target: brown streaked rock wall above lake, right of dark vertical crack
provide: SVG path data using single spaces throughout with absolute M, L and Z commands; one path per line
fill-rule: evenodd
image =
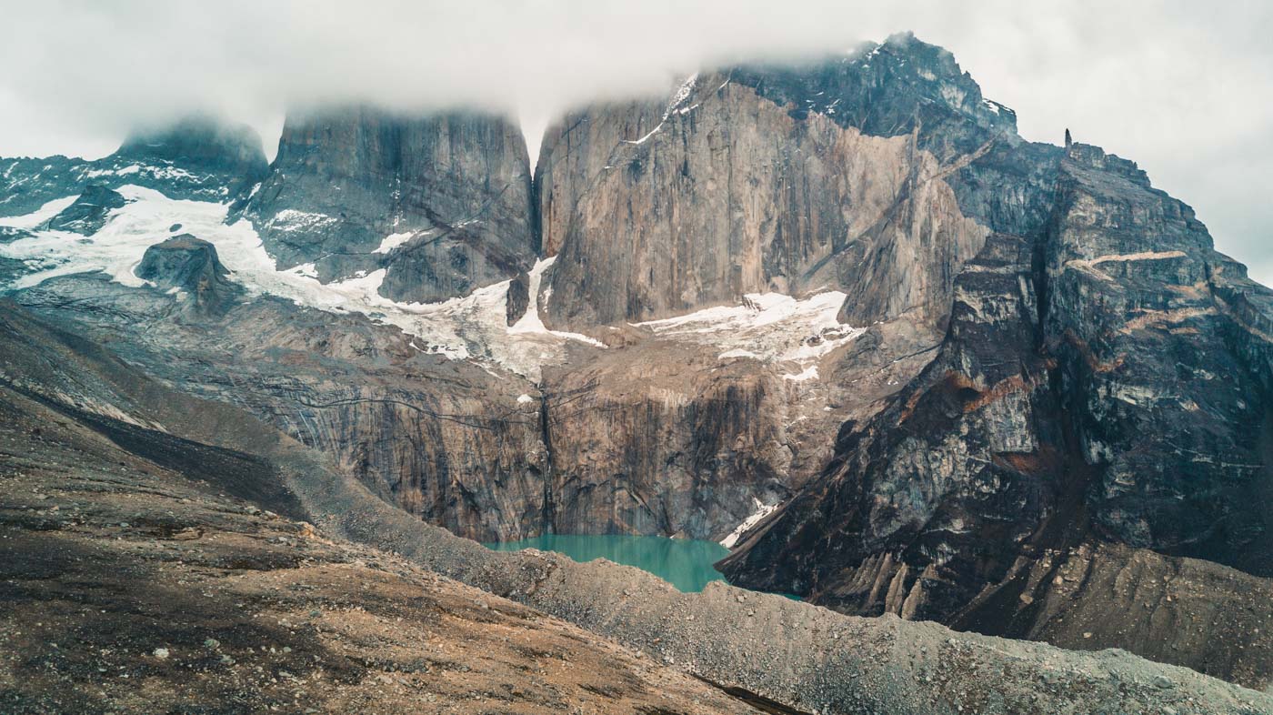
M 784 381 L 718 365 L 653 344 L 546 371 L 547 526 L 719 540 L 789 496 Z

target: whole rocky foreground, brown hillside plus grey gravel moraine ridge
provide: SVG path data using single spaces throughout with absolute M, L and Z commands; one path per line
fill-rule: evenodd
M 629 567 L 491 552 L 237 408 L 8 307 L 0 593 L 13 608 L 0 628 L 13 647 L 0 702 L 14 711 L 1273 709 L 1123 651 L 854 618 L 724 585 L 680 594 Z

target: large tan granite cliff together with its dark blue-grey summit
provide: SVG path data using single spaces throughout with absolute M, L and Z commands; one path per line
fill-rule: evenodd
M 1011 110 L 910 36 L 822 62 L 700 73 L 662 102 L 601 105 L 540 158 L 546 310 L 649 320 L 746 293 L 848 293 L 841 319 L 941 324 L 988 229 L 1040 222 Z M 1011 182 L 1012 190 L 1003 191 Z

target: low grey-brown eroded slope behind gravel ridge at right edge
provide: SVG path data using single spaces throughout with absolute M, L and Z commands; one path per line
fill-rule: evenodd
M 951 626 L 1071 650 L 1122 647 L 1265 690 L 1273 683 L 1270 618 L 1270 579 L 1101 543 L 1021 560 Z

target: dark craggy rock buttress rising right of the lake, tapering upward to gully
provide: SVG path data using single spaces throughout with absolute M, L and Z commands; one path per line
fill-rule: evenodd
M 990 237 L 956 283 L 937 358 L 880 415 L 841 430 L 822 477 L 726 574 L 844 610 L 933 618 L 1007 572 L 1072 472 L 1064 436 L 1040 418 L 1057 408 L 1031 266 L 1029 241 Z M 831 529 L 847 538 L 827 552 L 816 544 Z

